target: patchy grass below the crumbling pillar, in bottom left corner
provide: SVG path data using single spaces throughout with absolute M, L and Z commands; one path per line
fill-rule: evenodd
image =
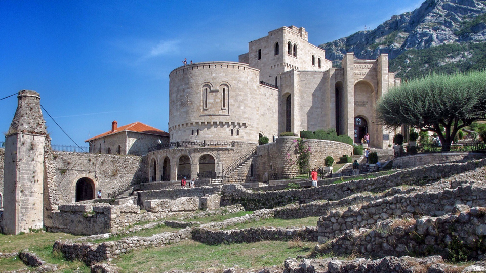
M 49 232 L 34 232 L 19 235 L 0 234 L 0 252 L 19 252 L 28 248 L 29 251 L 36 253 L 42 260 L 46 261 L 47 263 L 57 264 L 58 268 L 63 269 L 65 272 L 76 270 L 78 267 L 78 272 L 90 272 L 90 268 L 83 263 L 79 261 L 65 261 L 62 255 L 52 252 L 52 246 L 56 240 L 74 239 L 79 237 L 80 236 L 70 235 L 67 233 Z M 0 259 L 0 268 L 2 270 L 8 270 L 4 268 L 16 266 L 19 266 L 19 263 L 16 260 Z

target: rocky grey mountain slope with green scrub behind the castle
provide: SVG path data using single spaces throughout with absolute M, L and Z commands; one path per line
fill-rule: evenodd
M 403 78 L 481 69 L 486 67 L 486 1 L 426 0 L 420 8 L 394 15 L 376 29 L 319 47 L 334 66 L 347 52 L 358 59 L 387 53 L 390 71 Z

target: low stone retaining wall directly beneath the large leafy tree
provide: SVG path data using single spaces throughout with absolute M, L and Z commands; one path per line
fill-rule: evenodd
M 395 160 L 393 160 L 393 168 L 413 168 L 428 164 L 440 164 L 444 162 L 482 158 L 486 158 L 486 154 L 472 152 L 424 153 L 395 158 Z

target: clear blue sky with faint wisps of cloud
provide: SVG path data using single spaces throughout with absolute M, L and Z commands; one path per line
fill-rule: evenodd
M 249 41 L 290 25 L 304 27 L 319 45 L 421 2 L 0 0 L 0 98 L 37 91 L 80 146 L 113 120 L 167 131 L 169 73 L 184 58 L 238 61 Z M 16 107 L 16 96 L 0 101 L 0 132 Z M 53 144 L 74 145 L 44 118 Z

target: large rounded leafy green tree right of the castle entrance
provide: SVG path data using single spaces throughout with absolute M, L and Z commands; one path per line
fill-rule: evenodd
M 486 116 L 486 71 L 410 80 L 382 96 L 377 114 L 388 127 L 437 133 L 442 150 L 449 151 L 461 128 Z

